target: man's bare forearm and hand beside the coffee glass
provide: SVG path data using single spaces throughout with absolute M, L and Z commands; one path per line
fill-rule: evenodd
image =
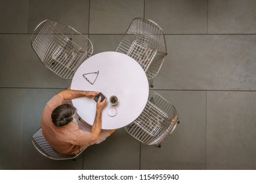
M 102 126 L 102 109 L 106 105 L 106 98 L 104 101 L 100 102 L 101 97 L 98 98 L 98 102 L 96 104 L 96 114 L 95 114 L 95 121 L 93 122 L 93 126 L 91 129 L 91 133 L 93 133 L 93 140 L 96 141 L 98 136 L 100 135 L 101 126 Z

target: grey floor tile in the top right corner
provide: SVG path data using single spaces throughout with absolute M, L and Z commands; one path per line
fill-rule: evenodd
M 256 1 L 209 0 L 208 33 L 255 34 Z

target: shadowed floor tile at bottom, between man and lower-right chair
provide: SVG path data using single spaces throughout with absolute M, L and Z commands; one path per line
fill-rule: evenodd
M 139 156 L 139 141 L 124 128 L 116 129 L 106 141 L 89 146 L 84 151 L 83 169 L 139 169 Z

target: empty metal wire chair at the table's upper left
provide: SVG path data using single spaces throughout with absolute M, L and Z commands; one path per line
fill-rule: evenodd
M 79 65 L 93 54 L 93 44 L 87 37 L 51 19 L 35 27 L 31 44 L 41 62 L 65 79 L 73 78 Z

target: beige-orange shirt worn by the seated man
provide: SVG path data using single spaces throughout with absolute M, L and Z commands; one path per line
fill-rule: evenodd
M 54 108 L 62 105 L 63 101 L 62 97 L 57 94 L 45 106 L 41 119 L 43 136 L 56 151 L 62 154 L 75 154 L 79 152 L 81 146 L 86 147 L 93 142 L 93 134 L 79 129 L 74 121 L 63 127 L 53 124 L 51 114 Z

